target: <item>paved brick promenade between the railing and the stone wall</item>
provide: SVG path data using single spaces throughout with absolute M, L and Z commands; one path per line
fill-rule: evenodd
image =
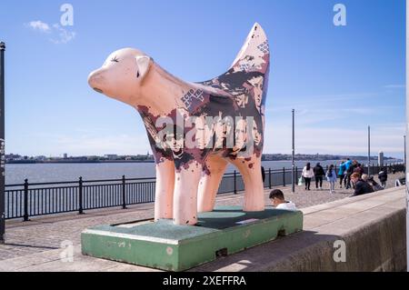
M 393 187 L 394 179 L 398 176 L 401 175 L 390 175 L 388 187 Z M 327 186 L 326 183 L 324 183 L 324 186 Z M 330 195 L 324 189 L 305 192 L 302 187 L 297 187 L 296 193 L 292 194 L 290 186 L 275 188 L 282 189 L 287 200 L 292 200 L 300 209 L 344 199 L 352 194 L 351 190 L 345 189 L 337 189 L 334 195 Z M 314 188 L 314 185 L 312 188 Z M 265 200 L 267 203 L 269 202 L 268 193 L 269 190 L 266 190 Z M 243 193 L 238 195 L 219 195 L 217 198 L 217 205 L 242 205 L 242 203 Z M 153 216 L 154 205 L 146 204 L 134 205 L 126 210 L 88 211 L 85 215 L 69 214 L 39 217 L 25 223 L 18 220 L 7 221 L 6 244 L 0 245 L 0 271 L 14 270 L 12 265 L 21 265 L 23 262 L 26 265 L 27 260 L 37 260 L 39 256 L 44 258 L 44 256 L 49 255 L 55 259 L 60 255 L 62 251 L 61 245 L 64 241 L 69 241 L 75 245 L 75 251 L 79 252 L 80 234 L 86 227 L 127 223 L 141 219 L 150 219 Z M 106 261 L 106 263 L 108 262 Z M 119 265 L 115 264 L 115 268 L 116 266 Z M 135 267 L 133 269 L 135 270 L 136 268 L 142 267 Z M 125 265 L 121 265 L 119 269 L 125 269 Z M 88 270 L 92 270 L 92 268 Z

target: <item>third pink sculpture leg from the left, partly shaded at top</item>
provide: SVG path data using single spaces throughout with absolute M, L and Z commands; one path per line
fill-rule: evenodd
M 228 163 L 222 157 L 209 155 L 206 167 L 210 175 L 203 175 L 200 179 L 197 194 L 197 210 L 199 213 L 211 212 L 214 209 L 215 198 Z

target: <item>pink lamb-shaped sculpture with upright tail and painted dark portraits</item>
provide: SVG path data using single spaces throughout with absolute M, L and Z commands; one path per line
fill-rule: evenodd
M 167 73 L 139 50 L 109 55 L 88 78 L 95 91 L 132 105 L 155 155 L 155 220 L 195 225 L 214 209 L 230 163 L 244 179 L 244 211 L 264 211 L 261 157 L 270 52 L 255 24 L 227 73 L 203 83 Z

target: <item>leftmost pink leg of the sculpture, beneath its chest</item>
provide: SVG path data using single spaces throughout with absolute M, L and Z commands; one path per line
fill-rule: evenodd
M 173 218 L 175 163 L 165 160 L 156 165 L 155 221 Z

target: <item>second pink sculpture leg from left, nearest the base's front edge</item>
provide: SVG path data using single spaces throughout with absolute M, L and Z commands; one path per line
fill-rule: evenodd
M 195 225 L 197 223 L 197 187 L 203 166 L 193 161 L 182 166 L 175 174 L 174 223 Z

